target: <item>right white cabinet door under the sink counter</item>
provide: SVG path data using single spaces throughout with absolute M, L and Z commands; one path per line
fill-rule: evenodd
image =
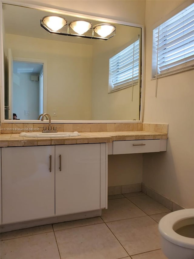
M 55 214 L 99 208 L 100 144 L 55 146 Z

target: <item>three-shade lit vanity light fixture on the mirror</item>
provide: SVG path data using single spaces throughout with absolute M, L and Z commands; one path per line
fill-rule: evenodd
M 56 15 L 43 17 L 40 25 L 49 33 L 89 39 L 107 40 L 116 34 L 116 27 L 108 23 L 92 26 L 92 23 L 86 20 L 67 22 L 65 18 Z

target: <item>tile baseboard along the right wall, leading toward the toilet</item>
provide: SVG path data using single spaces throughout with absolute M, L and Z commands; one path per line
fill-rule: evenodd
M 142 183 L 141 191 L 143 193 L 147 194 L 149 197 L 151 197 L 155 201 L 157 201 L 158 203 L 160 203 L 163 206 L 165 206 L 166 208 L 168 208 L 169 210 L 176 211 L 176 210 L 183 210 L 183 209 L 185 209 L 184 207 L 182 207 L 179 204 L 173 202 L 172 200 L 166 198 L 165 196 L 159 194 L 158 192 L 156 192 L 155 190 L 149 188 L 148 186 L 146 186 L 143 183 Z

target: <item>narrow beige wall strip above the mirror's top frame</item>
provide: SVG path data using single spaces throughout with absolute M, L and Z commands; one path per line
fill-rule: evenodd
M 5 0 L 6 1 L 6 0 Z M 57 9 L 96 15 L 102 18 L 144 24 L 145 0 L 14 0 L 44 6 L 53 5 Z

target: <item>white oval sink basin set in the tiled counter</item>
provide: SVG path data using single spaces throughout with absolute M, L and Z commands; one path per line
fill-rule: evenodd
M 77 137 L 80 136 L 77 131 L 75 132 L 54 132 L 54 133 L 45 133 L 45 132 L 22 132 L 20 137 L 26 138 L 68 138 L 68 137 Z

